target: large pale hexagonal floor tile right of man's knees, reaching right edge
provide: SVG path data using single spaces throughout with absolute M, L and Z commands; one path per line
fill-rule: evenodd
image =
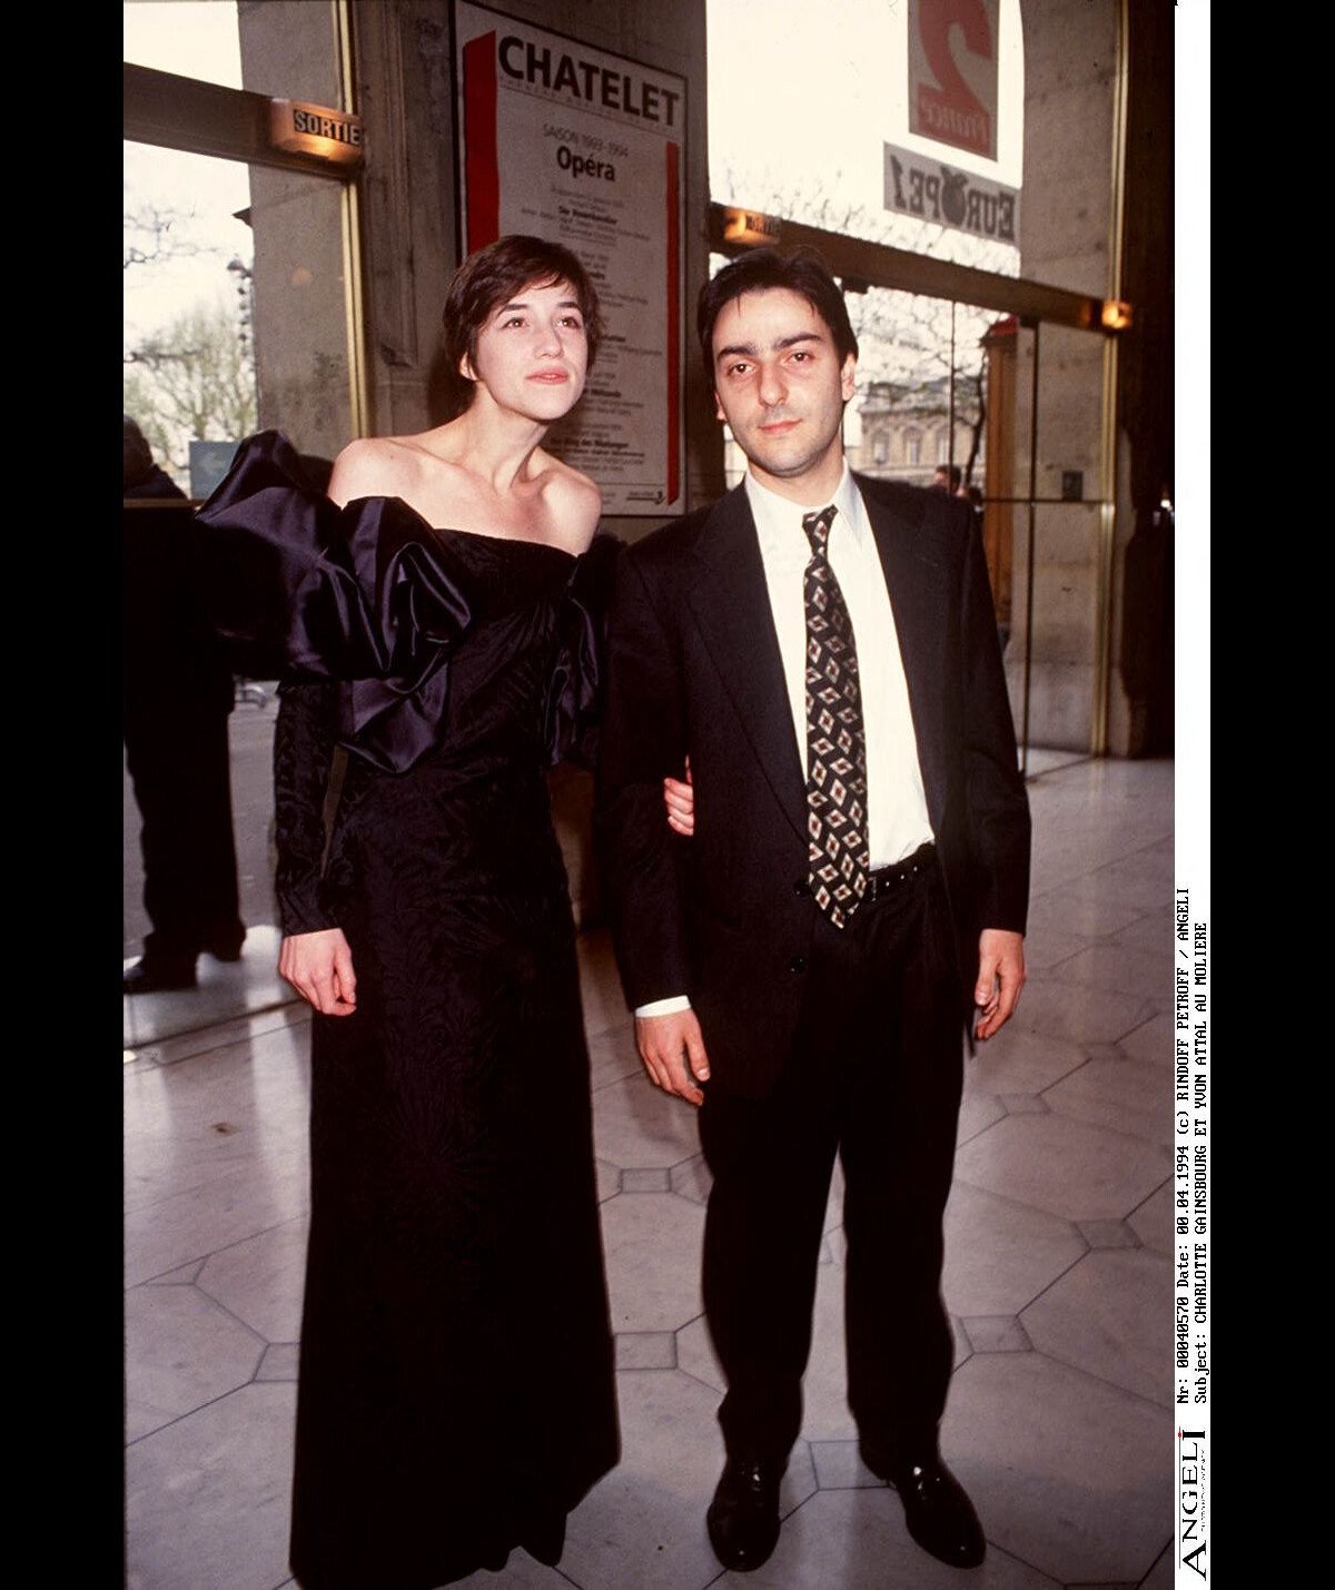
M 1125 1220 L 1168 1175 L 1154 1143 L 1060 1115 L 1011 1115 L 955 1154 L 955 1180 L 1066 1220 Z

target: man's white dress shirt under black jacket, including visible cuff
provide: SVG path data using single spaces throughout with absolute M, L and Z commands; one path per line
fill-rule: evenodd
M 803 529 L 803 517 L 811 507 L 790 502 L 763 487 L 755 475 L 745 477 L 747 502 L 755 520 L 769 611 L 779 636 L 779 657 L 793 735 L 806 774 L 806 596 L 803 582 L 811 561 L 811 541 Z M 876 549 L 876 536 L 866 507 L 847 461 L 839 487 L 831 499 L 836 507 L 830 526 L 830 568 L 839 580 L 853 642 L 858 652 L 858 684 L 861 687 L 863 728 L 866 733 L 866 806 L 868 847 L 871 867 L 892 867 L 933 838 L 927 816 L 927 795 L 919 768 L 917 738 L 909 712 L 909 685 L 895 630 L 885 569 Z M 825 504 L 817 504 L 823 507 Z M 666 1016 L 690 1010 L 685 995 L 640 1005 L 636 1016 Z

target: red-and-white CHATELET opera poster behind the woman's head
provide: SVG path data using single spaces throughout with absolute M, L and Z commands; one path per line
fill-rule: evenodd
M 469 253 L 504 232 L 574 250 L 606 335 L 548 445 L 607 514 L 682 512 L 685 80 L 456 0 L 459 207 Z

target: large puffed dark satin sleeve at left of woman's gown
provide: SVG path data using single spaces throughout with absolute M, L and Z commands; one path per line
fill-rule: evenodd
M 339 738 L 388 771 L 445 719 L 448 658 L 482 606 L 469 568 L 397 498 L 339 507 L 291 442 L 242 442 L 197 514 L 200 593 L 237 673 L 337 679 Z

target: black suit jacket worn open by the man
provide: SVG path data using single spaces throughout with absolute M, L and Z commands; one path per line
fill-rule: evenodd
M 857 482 L 904 658 L 968 1022 L 979 930 L 1023 932 L 1028 903 L 1028 801 L 987 568 L 969 504 Z M 607 653 L 598 830 L 626 999 L 688 994 L 715 1078 L 761 1096 L 791 1053 L 817 908 L 806 785 L 742 487 L 626 549 Z M 661 787 L 687 755 L 691 840 L 668 828 Z

